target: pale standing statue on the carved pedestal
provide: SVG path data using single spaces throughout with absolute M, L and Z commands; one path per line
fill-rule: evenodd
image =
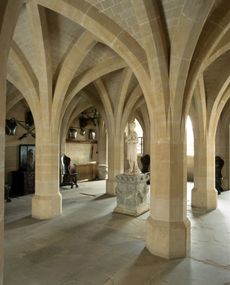
M 135 132 L 136 124 L 134 121 L 129 123 L 129 134 L 126 138 L 127 142 L 127 160 L 129 162 L 129 170 L 130 174 L 140 173 L 140 169 L 137 165 L 137 144 L 138 144 L 138 136 Z

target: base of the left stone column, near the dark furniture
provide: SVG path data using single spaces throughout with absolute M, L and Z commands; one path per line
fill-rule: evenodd
M 62 213 L 62 196 L 35 195 L 32 199 L 32 217 L 46 220 L 60 216 Z

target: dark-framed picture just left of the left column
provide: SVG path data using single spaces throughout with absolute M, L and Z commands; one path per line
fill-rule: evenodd
M 19 145 L 19 169 L 24 171 L 34 171 L 35 168 L 35 145 Z

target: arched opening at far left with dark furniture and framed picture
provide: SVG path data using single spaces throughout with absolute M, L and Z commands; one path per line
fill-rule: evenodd
M 5 198 L 10 201 L 35 193 L 35 125 L 25 100 L 6 113 L 5 132 Z

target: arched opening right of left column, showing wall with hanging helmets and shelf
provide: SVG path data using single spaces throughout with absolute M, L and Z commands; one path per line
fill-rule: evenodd
M 79 114 L 75 113 L 63 132 L 65 137 L 62 140 L 61 152 L 71 159 L 71 165 L 76 166 L 78 181 L 97 178 L 100 119 L 100 113 L 91 106 Z M 61 186 L 65 186 L 63 181 L 61 181 Z

